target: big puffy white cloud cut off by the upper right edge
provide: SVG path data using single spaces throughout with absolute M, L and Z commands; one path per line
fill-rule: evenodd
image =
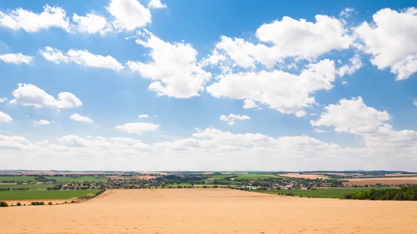
M 373 15 L 373 23 L 363 22 L 354 29 L 363 41 L 370 62 L 378 69 L 391 68 L 397 80 L 417 72 L 417 8 L 398 12 L 385 8 Z

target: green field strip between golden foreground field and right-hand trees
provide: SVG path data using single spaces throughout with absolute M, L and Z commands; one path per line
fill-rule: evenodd
M 336 188 L 319 188 L 316 190 L 259 190 L 268 194 L 293 193 L 296 197 L 316 197 L 316 198 L 342 198 L 345 194 L 352 194 L 359 191 L 378 190 L 384 187 L 336 187 Z

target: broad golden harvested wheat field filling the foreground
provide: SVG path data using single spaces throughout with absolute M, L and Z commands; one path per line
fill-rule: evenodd
M 108 190 L 85 203 L 0 208 L 0 233 L 417 233 L 416 210 L 413 201 Z

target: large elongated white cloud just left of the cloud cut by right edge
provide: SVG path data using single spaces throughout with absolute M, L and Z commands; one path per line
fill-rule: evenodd
M 352 44 L 352 37 L 342 22 L 326 15 L 316 15 L 315 23 L 283 17 L 281 21 L 260 26 L 256 37 L 261 43 L 272 46 L 221 36 L 208 63 L 217 64 L 229 58 L 232 66 L 253 68 L 261 63 L 273 67 L 284 58 L 313 60 L 334 49 L 348 49 Z

